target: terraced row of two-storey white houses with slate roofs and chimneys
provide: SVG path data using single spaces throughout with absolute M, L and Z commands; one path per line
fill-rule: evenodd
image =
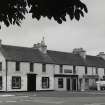
M 44 39 L 32 48 L 0 41 L 0 91 L 85 91 L 104 79 L 105 54 L 47 50 Z

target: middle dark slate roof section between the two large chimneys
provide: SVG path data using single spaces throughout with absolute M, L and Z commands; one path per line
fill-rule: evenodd
M 76 54 L 48 50 L 48 55 L 54 60 L 55 64 L 85 65 L 84 60 Z

